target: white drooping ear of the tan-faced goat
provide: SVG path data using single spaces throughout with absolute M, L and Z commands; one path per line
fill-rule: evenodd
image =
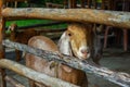
M 66 32 L 64 32 L 57 44 L 61 53 L 66 55 L 73 55 L 69 42 L 70 42 L 69 36 L 67 35 Z

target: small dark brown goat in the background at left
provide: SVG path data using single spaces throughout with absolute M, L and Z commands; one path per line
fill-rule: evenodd
M 10 40 L 25 44 L 25 45 L 28 44 L 28 40 L 30 39 L 30 37 L 39 35 L 39 33 L 35 30 L 34 28 L 29 28 L 24 32 L 18 32 L 17 25 L 15 23 L 12 23 L 9 26 L 8 30 L 11 32 Z M 20 61 L 21 60 L 20 50 L 15 50 L 15 53 L 16 53 L 16 61 Z

